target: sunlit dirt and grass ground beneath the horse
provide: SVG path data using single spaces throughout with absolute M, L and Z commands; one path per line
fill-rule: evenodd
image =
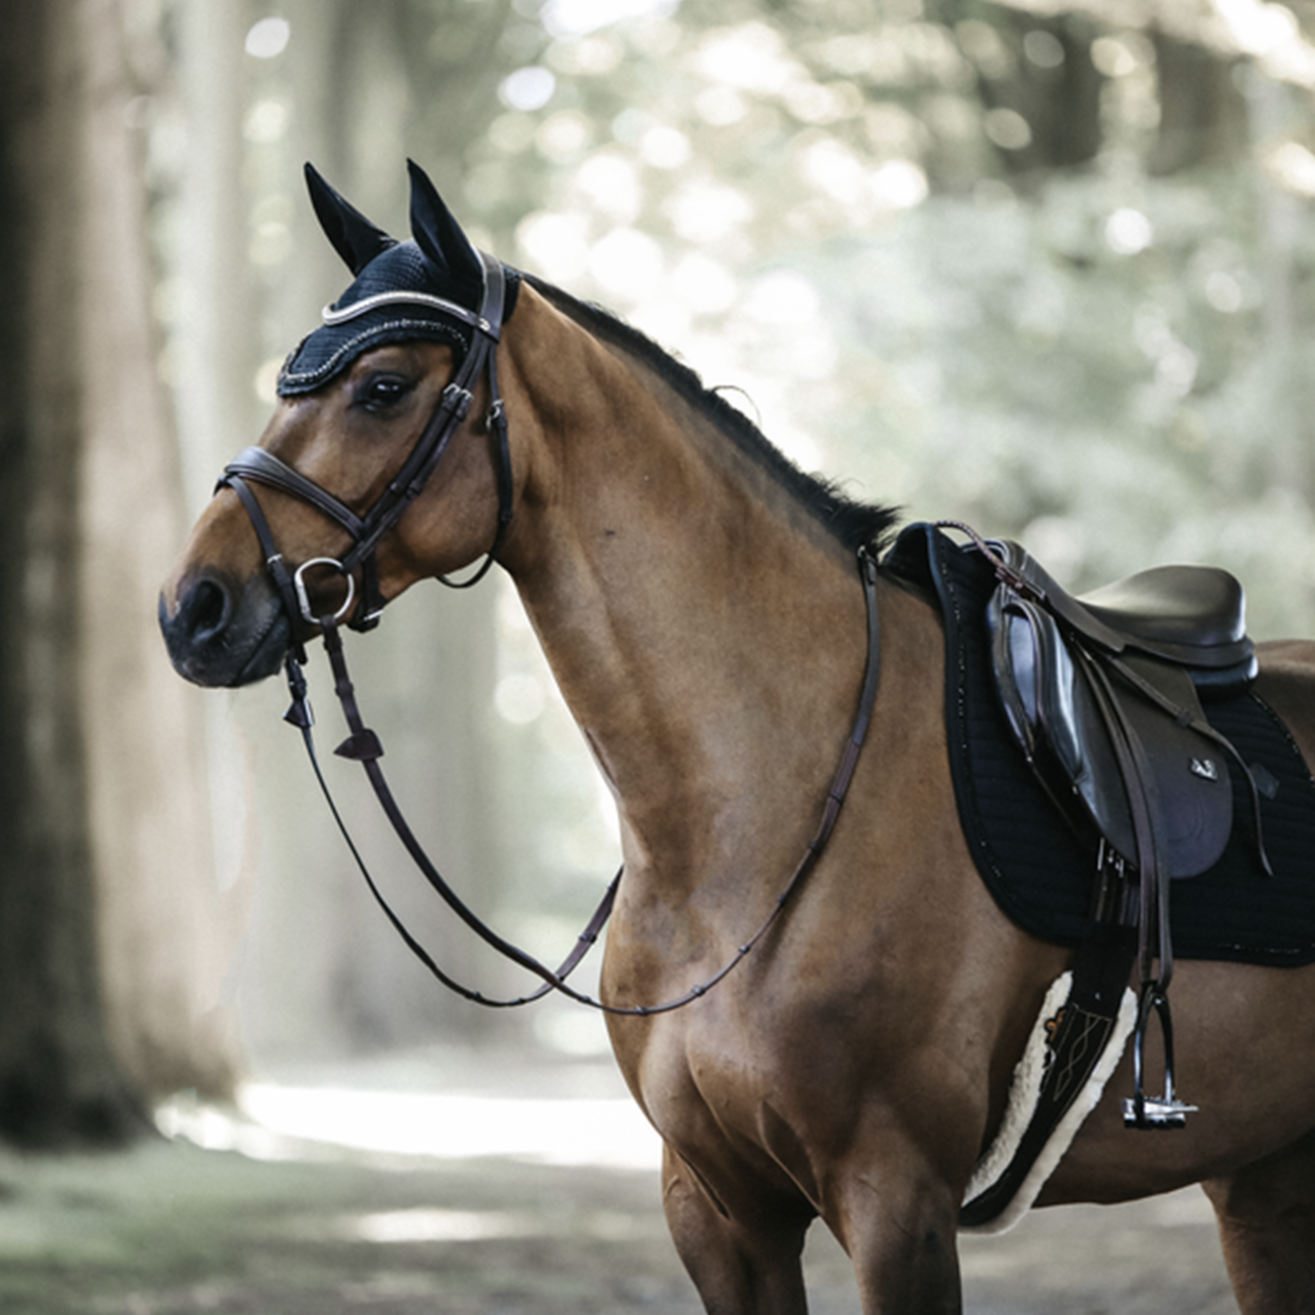
M 375 1149 L 262 1130 L 247 1151 L 281 1159 L 181 1136 L 107 1156 L 0 1152 L 0 1315 L 698 1315 L 656 1169 L 635 1166 L 651 1148 L 621 1135 L 626 1103 L 585 1103 L 580 1120 L 565 1086 L 544 1093 L 496 1106 L 514 1153 L 485 1153 L 468 1095 L 389 1097 L 364 1139 Z M 433 1153 L 380 1149 L 389 1136 Z M 972 1315 L 1236 1315 L 1195 1190 L 1038 1211 L 961 1252 Z M 807 1265 L 814 1315 L 856 1310 L 822 1230 Z

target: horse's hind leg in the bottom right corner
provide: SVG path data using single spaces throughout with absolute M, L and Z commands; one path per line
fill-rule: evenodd
M 1244 1315 L 1315 1311 L 1315 1132 L 1203 1186 Z

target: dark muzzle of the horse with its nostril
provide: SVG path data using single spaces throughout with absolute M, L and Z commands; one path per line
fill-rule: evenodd
M 160 633 L 174 669 L 196 685 L 250 685 L 277 672 L 292 626 L 262 577 L 234 585 L 204 575 L 174 605 L 159 601 Z

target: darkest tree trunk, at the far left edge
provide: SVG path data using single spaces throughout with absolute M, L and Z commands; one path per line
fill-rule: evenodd
M 75 9 L 0 43 L 0 1132 L 114 1139 L 138 1105 L 104 1034 L 79 717 Z

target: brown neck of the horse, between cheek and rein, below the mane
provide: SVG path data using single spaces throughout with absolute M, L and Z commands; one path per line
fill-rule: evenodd
M 815 822 L 863 671 L 861 589 L 706 419 L 605 348 L 590 368 L 551 422 L 529 383 L 540 425 L 512 571 L 627 861 L 702 882 Z

